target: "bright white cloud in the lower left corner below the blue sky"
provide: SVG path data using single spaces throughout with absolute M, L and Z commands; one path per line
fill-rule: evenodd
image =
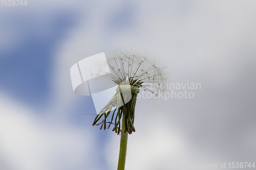
M 85 165 L 92 144 L 88 132 L 54 117 L 36 116 L 3 96 L 0 108 L 0 159 L 5 162 L 2 166 L 50 170 Z

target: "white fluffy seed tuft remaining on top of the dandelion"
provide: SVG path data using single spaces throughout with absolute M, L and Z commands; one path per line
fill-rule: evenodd
M 107 61 L 111 67 L 109 79 L 117 85 L 127 79 L 130 85 L 143 87 L 154 94 L 164 90 L 161 86 L 165 85 L 168 76 L 161 61 L 155 56 L 116 50 L 109 54 Z

